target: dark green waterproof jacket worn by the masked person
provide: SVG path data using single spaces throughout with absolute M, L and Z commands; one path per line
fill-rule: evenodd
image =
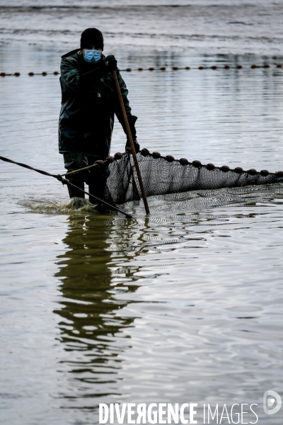
M 102 59 L 105 57 L 102 55 Z M 62 56 L 59 152 L 84 152 L 105 159 L 110 152 L 114 114 L 124 128 L 112 74 L 102 75 L 98 64 L 88 64 L 80 50 Z M 131 108 L 120 72 L 117 78 L 127 115 Z

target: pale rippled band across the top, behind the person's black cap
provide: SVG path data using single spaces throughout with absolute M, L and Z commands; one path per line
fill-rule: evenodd
M 115 49 L 282 55 L 282 1 L 1 0 L 0 43 L 74 45 L 96 26 Z

